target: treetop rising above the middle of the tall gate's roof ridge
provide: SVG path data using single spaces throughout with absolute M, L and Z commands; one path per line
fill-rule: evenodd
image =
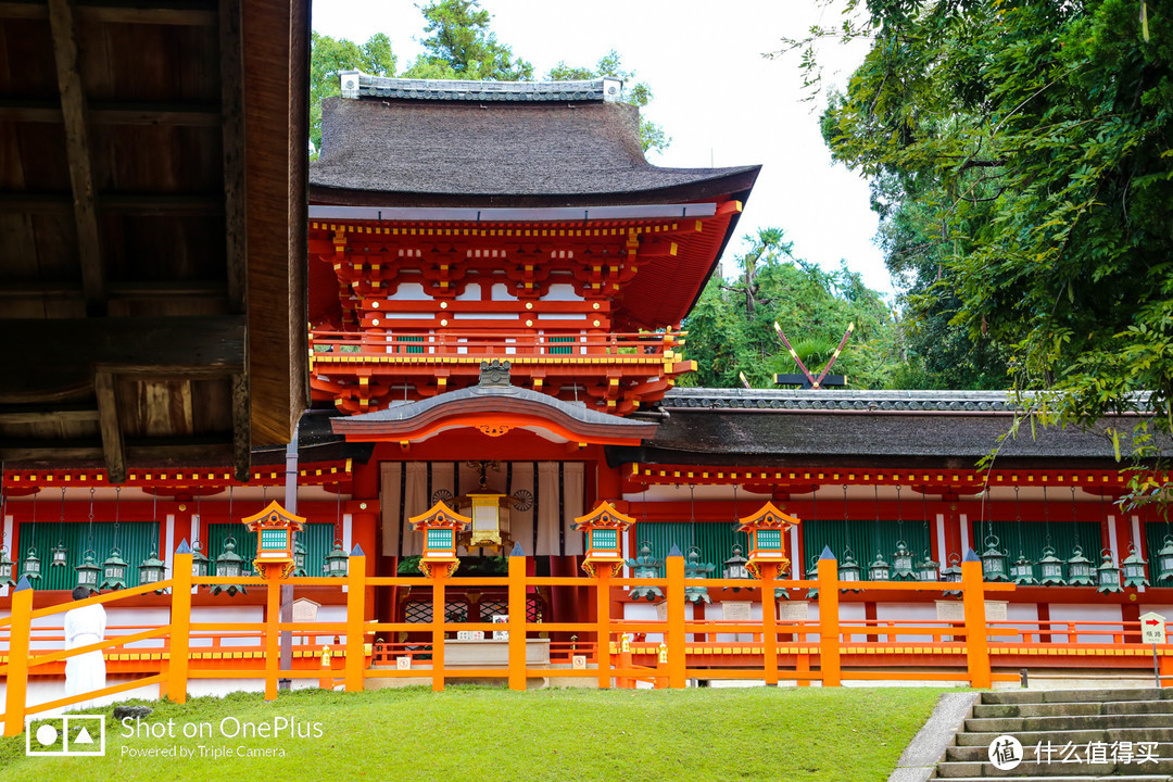
M 423 53 L 404 76 L 408 79 L 468 79 L 529 81 L 534 66 L 514 56 L 489 29 L 491 16 L 477 0 L 433 0 L 416 5 L 423 14 Z

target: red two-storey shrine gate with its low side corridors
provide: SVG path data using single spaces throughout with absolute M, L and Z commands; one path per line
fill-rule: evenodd
M 1038 627 L 1040 641 L 1057 623 L 1173 614 L 1167 519 L 1114 504 L 1127 480 L 1105 435 L 1114 422 L 1019 431 L 982 468 L 1019 414 L 1002 393 L 680 387 L 696 369 L 689 312 L 720 273 L 759 166 L 650 164 L 638 110 L 612 79 L 346 73 L 341 87 L 310 166 L 312 409 L 296 447 L 255 446 L 248 482 L 221 467 L 131 465 L 114 485 L 99 467 L 9 465 L 6 556 L 15 573 L 39 560 L 35 589 L 68 600 L 87 556 L 117 556 L 135 585 L 142 563 L 169 567 L 184 539 L 212 566 L 225 555 L 248 566 L 256 544 L 240 518 L 296 484 L 311 576 L 355 545 L 371 574 L 418 573 L 423 532 L 411 519 L 438 502 L 469 516 L 447 592 L 455 621 L 506 612 L 503 590 L 461 589 L 460 577 L 503 572 L 515 546 L 533 574 L 578 574 L 574 522 L 603 501 L 636 519 L 628 572 L 657 571 L 673 546 L 694 555 L 693 573 L 744 572 L 738 522 L 772 502 L 800 519 L 785 537 L 792 578 L 829 548 L 845 579 L 854 567 L 856 580 L 960 580 L 974 549 L 989 579 L 1018 584 L 990 620 Z M 429 593 L 412 592 L 377 592 L 367 618 L 430 621 Z M 345 613 L 335 591 L 298 597 L 320 619 Z M 623 592 L 615 614 L 655 619 L 656 597 Z M 784 617 L 818 616 L 806 590 L 779 597 Z M 727 589 L 693 598 L 694 619 L 719 618 L 724 603 L 761 617 Z M 136 598 L 110 624 L 150 621 L 165 600 Z M 948 617 L 948 603 L 848 592 L 840 611 L 874 627 Z M 255 621 L 265 608 L 248 591 L 203 591 L 194 605 L 197 620 Z M 591 610 L 585 590 L 528 596 L 531 620 Z

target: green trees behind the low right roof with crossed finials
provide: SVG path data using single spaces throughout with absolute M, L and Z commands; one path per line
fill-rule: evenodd
M 887 388 L 900 356 L 897 322 L 880 293 L 842 265 L 828 273 L 792 253 L 781 229 L 762 229 L 737 259 L 732 283 L 713 276 L 683 327 L 698 372 L 687 385 L 734 388 L 745 373 L 754 388 L 774 374 L 799 372 L 774 332 L 778 322 L 812 373 L 830 358 L 849 324 L 855 332 L 832 372 L 855 388 Z

